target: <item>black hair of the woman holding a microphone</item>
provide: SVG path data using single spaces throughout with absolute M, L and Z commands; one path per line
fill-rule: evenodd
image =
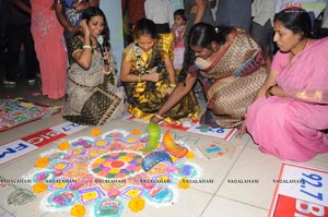
M 90 20 L 93 16 L 102 16 L 104 19 L 104 31 L 102 33 L 102 35 L 104 36 L 104 46 L 110 48 L 110 44 L 109 44 L 109 39 L 110 39 L 109 27 L 108 27 L 108 23 L 107 23 L 107 20 L 106 20 L 106 16 L 105 16 L 104 12 L 99 8 L 97 8 L 97 7 L 90 7 L 90 8 L 85 9 L 83 11 L 82 19 L 86 20 L 86 24 L 90 22 Z

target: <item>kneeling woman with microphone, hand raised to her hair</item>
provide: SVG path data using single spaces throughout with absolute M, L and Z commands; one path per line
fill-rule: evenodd
M 62 108 L 62 117 L 79 124 L 98 125 L 108 118 L 117 118 L 120 114 L 118 109 L 122 107 L 115 86 L 116 63 L 103 11 L 95 7 L 86 9 L 80 26 L 82 34 L 74 36 L 69 44 L 68 100 Z M 97 46 L 99 35 L 104 37 L 104 57 Z

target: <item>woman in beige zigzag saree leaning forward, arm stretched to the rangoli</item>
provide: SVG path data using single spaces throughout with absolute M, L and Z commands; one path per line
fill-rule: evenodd
M 267 77 L 262 49 L 244 29 L 222 27 L 216 32 L 206 23 L 192 26 L 188 41 L 191 52 L 185 62 L 187 77 L 174 89 L 159 116 L 166 116 L 200 79 L 208 99 L 200 122 L 222 128 L 239 125 Z M 160 119 L 154 117 L 152 121 Z

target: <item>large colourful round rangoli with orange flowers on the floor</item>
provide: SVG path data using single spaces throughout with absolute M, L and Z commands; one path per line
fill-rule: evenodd
M 138 206 L 143 203 L 169 206 L 178 197 L 181 180 L 199 178 L 201 169 L 191 161 L 191 150 L 174 142 L 169 132 L 166 140 L 152 144 L 155 149 L 145 152 L 151 136 L 163 137 L 159 133 L 138 136 L 113 130 L 66 141 L 68 149 L 42 154 L 48 166 L 23 178 L 47 184 L 39 206 L 45 212 L 72 214 L 72 207 L 83 205 L 85 216 L 112 217 L 120 216 L 127 204 L 132 212 L 141 210 Z

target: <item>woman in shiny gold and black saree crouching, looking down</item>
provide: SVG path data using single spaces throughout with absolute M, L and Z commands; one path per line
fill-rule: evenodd
M 168 56 L 172 45 L 157 36 L 154 22 L 148 19 L 138 21 L 133 38 L 134 43 L 122 53 L 120 79 L 130 104 L 128 111 L 137 118 L 149 120 L 176 86 Z M 186 117 L 197 119 L 198 113 L 196 97 L 190 93 L 166 113 L 166 121 L 173 122 Z

